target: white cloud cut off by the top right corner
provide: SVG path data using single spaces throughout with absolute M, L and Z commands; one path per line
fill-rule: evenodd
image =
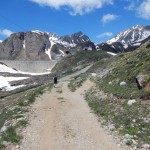
M 138 16 L 150 20 L 150 0 L 144 0 L 137 9 Z

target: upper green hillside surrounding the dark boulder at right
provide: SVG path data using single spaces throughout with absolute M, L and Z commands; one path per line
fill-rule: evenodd
M 108 64 L 107 60 L 103 60 L 102 66 Z M 127 53 L 117 63 L 111 65 L 112 71 L 96 81 L 100 89 L 120 98 L 150 99 L 150 91 L 144 88 L 150 82 L 150 49 Z M 135 78 L 138 75 L 145 76 L 142 90 L 139 90 L 136 84 Z M 126 85 L 120 86 L 123 81 Z

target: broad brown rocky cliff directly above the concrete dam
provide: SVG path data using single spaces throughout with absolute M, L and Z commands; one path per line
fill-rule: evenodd
M 1 43 L 0 59 L 49 60 L 44 52 L 50 44 L 46 34 L 14 33 Z

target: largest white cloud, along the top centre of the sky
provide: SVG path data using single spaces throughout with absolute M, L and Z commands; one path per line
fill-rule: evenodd
M 94 9 L 102 8 L 104 4 L 113 4 L 113 0 L 29 0 L 41 6 L 49 6 L 55 9 L 68 7 L 71 15 L 83 15 Z M 68 10 L 68 9 L 67 9 Z

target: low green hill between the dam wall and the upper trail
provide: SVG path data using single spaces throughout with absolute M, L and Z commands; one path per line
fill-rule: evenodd
M 52 72 L 59 75 L 71 74 L 86 65 L 111 57 L 104 51 L 79 51 L 75 55 L 68 56 L 52 69 Z M 77 68 L 76 68 L 77 67 Z

